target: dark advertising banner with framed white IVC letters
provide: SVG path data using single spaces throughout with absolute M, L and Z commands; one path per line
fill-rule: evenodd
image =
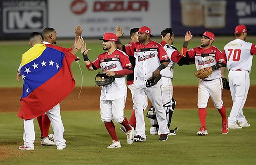
M 27 37 L 47 27 L 47 0 L 0 1 L 0 39 Z

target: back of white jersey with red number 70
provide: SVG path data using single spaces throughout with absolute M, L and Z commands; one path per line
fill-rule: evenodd
M 246 70 L 250 71 L 252 67 L 251 55 L 252 43 L 241 39 L 230 41 L 224 47 L 227 59 L 228 70 Z

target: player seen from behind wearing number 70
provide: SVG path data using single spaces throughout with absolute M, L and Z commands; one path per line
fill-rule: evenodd
M 227 61 L 229 86 L 233 100 L 228 117 L 228 127 L 231 129 L 250 126 L 243 115 L 243 106 L 250 87 L 249 75 L 252 67 L 252 55 L 256 54 L 256 46 L 245 41 L 247 31 L 245 25 L 236 26 L 234 32 L 236 39 L 225 45 L 223 50 L 223 56 Z M 239 125 L 237 125 L 237 121 Z

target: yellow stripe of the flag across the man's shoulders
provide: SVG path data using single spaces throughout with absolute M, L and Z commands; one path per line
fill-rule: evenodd
M 41 56 L 46 48 L 47 47 L 44 44 L 36 44 L 31 47 L 27 52 L 22 55 L 22 66 Z

